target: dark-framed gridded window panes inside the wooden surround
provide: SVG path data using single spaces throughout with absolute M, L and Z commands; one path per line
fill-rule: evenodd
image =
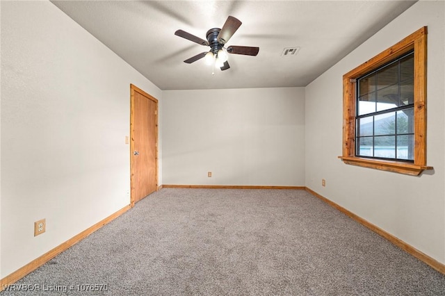
M 414 53 L 357 79 L 356 155 L 414 161 Z

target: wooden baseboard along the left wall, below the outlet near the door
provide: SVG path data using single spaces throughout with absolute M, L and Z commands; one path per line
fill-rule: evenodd
M 49 252 L 43 254 L 42 256 L 31 261 L 30 263 L 24 265 L 22 268 L 19 268 L 15 272 L 4 277 L 3 279 L 0 280 L 0 291 L 3 290 L 6 286 L 15 283 L 19 279 L 22 279 L 22 277 L 26 276 L 26 274 L 29 274 L 30 272 L 33 272 L 37 268 L 40 268 L 40 266 L 44 265 L 44 263 L 47 263 L 52 258 L 56 257 L 58 254 L 65 251 L 66 249 L 69 249 L 73 245 L 76 245 L 77 242 L 83 240 L 83 238 L 86 238 L 91 233 L 97 231 L 97 229 L 100 229 L 105 224 L 108 224 L 109 222 L 115 220 L 115 218 L 127 212 L 130 208 L 131 208 L 130 205 L 121 208 L 116 213 L 113 213 L 112 215 L 106 217 L 104 220 L 97 222 L 96 224 L 92 225 L 92 227 L 82 231 L 81 233 L 70 238 L 66 242 L 63 242 L 62 244 L 58 245 L 54 249 L 51 249 Z

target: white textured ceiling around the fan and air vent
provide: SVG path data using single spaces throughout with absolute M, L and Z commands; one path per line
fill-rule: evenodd
M 415 1 L 51 1 L 161 90 L 305 86 Z M 230 69 L 204 59 L 209 50 L 175 35 L 206 40 L 229 15 L 243 22 L 227 42 L 259 47 L 229 55 Z M 280 56 L 300 47 L 296 56 Z

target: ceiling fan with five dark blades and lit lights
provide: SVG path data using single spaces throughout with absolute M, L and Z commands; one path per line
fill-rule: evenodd
M 239 47 L 229 46 L 225 48 L 225 43 L 234 35 L 236 30 L 241 26 L 241 21 L 236 17 L 227 17 L 223 28 L 211 28 L 207 31 L 207 40 L 201 39 L 187 33 L 186 31 L 178 30 L 175 35 L 191 40 L 197 44 L 206 45 L 210 47 L 210 51 L 204 51 L 201 54 L 197 54 L 187 60 L 184 63 L 191 64 L 201 58 L 206 58 L 206 62 L 209 65 L 220 67 L 221 70 L 229 69 L 229 63 L 227 62 L 227 53 L 229 54 L 243 54 L 245 56 L 257 56 L 259 47 Z

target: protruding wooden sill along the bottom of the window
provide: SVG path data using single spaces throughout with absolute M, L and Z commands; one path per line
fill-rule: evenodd
M 424 170 L 432 170 L 433 167 L 427 165 L 414 165 L 414 163 L 403 163 L 400 161 L 383 161 L 370 158 L 339 156 L 343 163 L 347 165 L 357 165 L 359 167 L 369 167 L 376 170 L 397 172 L 400 174 L 409 174 L 419 176 Z

